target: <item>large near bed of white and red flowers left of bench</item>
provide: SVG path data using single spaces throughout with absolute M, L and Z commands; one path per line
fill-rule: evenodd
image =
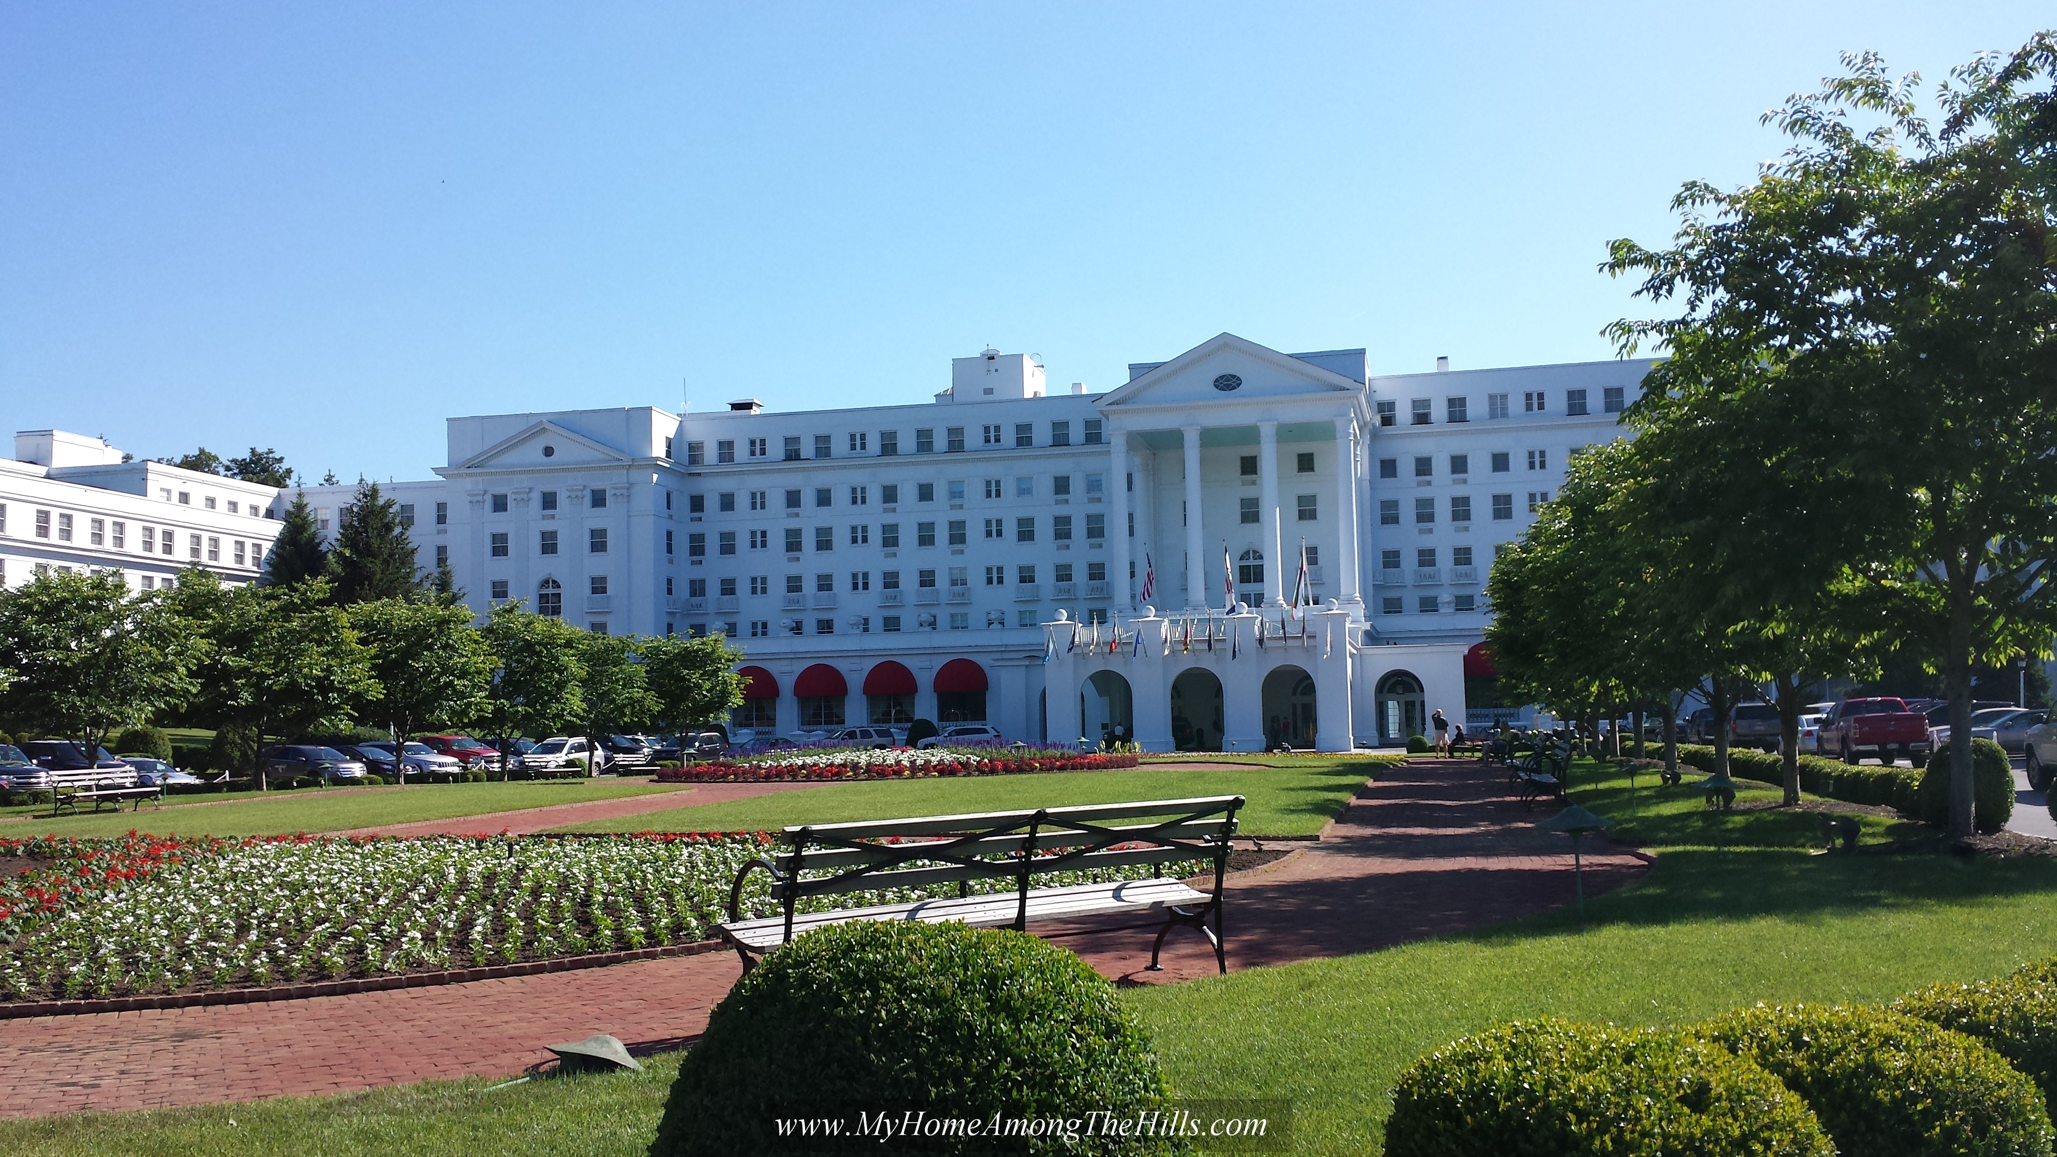
M 518 963 L 708 939 L 761 832 L 592 838 L 0 840 L 0 1001 L 138 996 Z M 1187 865 L 1197 871 L 1197 865 Z M 1187 871 L 1172 867 L 1172 871 Z M 1053 883 L 1150 869 L 1053 873 Z M 1008 879 L 973 891 L 1006 891 Z M 819 898 L 802 910 L 957 896 Z M 751 873 L 751 916 L 769 879 Z

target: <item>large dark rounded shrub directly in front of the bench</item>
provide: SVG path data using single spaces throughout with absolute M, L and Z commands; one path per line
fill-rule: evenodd
M 775 1118 L 1119 1116 L 1164 1103 L 1135 1015 L 1074 953 L 1012 931 L 858 920 L 773 949 L 685 1054 L 652 1157 L 773 1153 Z M 936 1147 L 928 1147 L 934 1143 Z M 1162 1141 L 922 1138 L 922 1153 L 1168 1153 Z M 847 1149 L 880 1153 L 876 1136 Z

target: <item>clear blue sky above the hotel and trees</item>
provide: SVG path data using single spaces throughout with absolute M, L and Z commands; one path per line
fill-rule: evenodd
M 0 6 L 0 422 L 426 478 L 442 418 L 1611 356 L 1594 272 L 2043 4 Z

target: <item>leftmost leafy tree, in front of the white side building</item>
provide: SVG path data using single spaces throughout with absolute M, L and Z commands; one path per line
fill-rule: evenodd
M 76 739 L 91 756 L 117 727 L 148 721 L 193 692 L 202 640 L 154 595 L 130 595 L 119 570 L 49 570 L 0 591 L 0 714 Z

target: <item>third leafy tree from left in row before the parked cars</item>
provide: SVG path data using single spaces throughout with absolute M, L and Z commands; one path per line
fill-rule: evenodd
M 362 718 L 383 721 L 405 743 L 418 731 L 465 727 L 485 712 L 494 655 L 469 607 L 376 599 L 348 607 L 348 616 L 381 692 L 358 710 Z

